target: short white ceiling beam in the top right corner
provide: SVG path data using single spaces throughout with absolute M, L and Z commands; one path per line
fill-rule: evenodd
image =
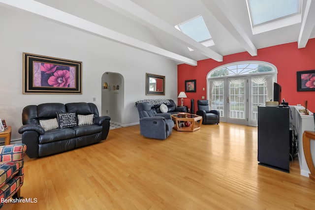
M 315 0 L 307 0 L 299 39 L 297 41 L 298 48 L 304 48 L 311 37 L 315 26 L 315 12 L 312 11 L 315 11 Z

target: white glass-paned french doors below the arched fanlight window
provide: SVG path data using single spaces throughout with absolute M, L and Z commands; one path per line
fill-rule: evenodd
M 258 106 L 271 97 L 272 91 L 269 90 L 268 95 L 267 84 L 272 81 L 271 76 L 210 79 L 211 108 L 219 110 L 221 121 L 255 126 Z

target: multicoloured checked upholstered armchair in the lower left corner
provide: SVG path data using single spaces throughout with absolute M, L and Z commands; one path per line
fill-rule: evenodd
M 0 146 L 0 198 L 20 197 L 24 180 L 24 154 L 26 145 Z M 4 203 L 0 202 L 0 208 Z

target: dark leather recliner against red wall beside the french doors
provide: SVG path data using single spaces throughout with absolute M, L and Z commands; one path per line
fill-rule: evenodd
M 202 124 L 219 124 L 220 113 L 217 110 L 210 110 L 208 100 L 198 100 L 197 115 L 202 117 Z

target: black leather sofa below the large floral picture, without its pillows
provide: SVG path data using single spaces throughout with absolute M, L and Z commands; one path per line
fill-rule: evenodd
M 81 116 L 93 116 L 93 124 L 75 125 L 45 131 L 40 120 L 55 120 L 57 112 L 76 113 Z M 91 119 L 92 120 L 92 119 Z M 91 145 L 105 140 L 109 132 L 110 117 L 98 115 L 93 103 L 44 103 L 29 105 L 23 109 L 22 143 L 28 148 L 30 158 L 42 157 L 67 150 Z

